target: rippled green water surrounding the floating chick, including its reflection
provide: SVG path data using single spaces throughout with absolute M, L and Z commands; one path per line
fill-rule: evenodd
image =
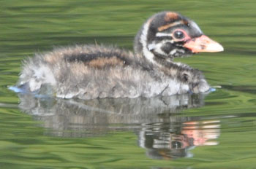
M 94 101 L 7 89 L 21 60 L 53 47 L 132 50 L 147 17 L 173 10 L 225 47 L 179 61 L 208 95 Z M 256 168 L 256 2 L 0 1 L 0 168 Z

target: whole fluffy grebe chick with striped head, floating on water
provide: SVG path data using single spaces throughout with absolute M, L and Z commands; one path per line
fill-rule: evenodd
M 82 99 L 204 93 L 210 86 L 202 72 L 173 58 L 220 52 L 223 47 L 187 17 L 159 12 L 143 24 L 134 50 L 78 45 L 36 54 L 24 62 L 18 86 Z

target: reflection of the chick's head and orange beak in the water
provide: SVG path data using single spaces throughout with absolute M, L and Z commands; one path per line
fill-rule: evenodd
M 139 134 L 139 145 L 147 149 L 148 157 L 168 160 L 192 157 L 189 150 L 195 146 L 217 145 L 214 139 L 219 137 L 219 120 L 187 119 L 166 124 L 166 127 L 161 124 L 143 128 Z

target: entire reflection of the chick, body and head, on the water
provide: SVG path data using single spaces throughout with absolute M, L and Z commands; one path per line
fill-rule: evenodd
M 48 135 L 89 137 L 129 130 L 154 159 L 192 157 L 189 149 L 215 145 L 219 136 L 218 120 L 180 114 L 183 109 L 203 106 L 204 95 L 89 101 L 19 97 L 20 109 L 43 121 L 43 127 L 50 129 Z

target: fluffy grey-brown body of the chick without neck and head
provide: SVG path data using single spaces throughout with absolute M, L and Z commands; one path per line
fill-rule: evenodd
M 19 85 L 32 92 L 54 91 L 60 98 L 151 97 L 161 93 L 167 82 L 145 62 L 142 56 L 116 47 L 58 48 L 26 60 Z

